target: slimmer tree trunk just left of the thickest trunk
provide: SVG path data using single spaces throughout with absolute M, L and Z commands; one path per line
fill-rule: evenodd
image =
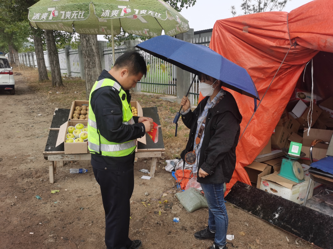
M 56 47 L 53 30 L 45 30 L 44 33 L 51 66 L 52 86 L 64 86 L 61 78 L 58 50 Z

